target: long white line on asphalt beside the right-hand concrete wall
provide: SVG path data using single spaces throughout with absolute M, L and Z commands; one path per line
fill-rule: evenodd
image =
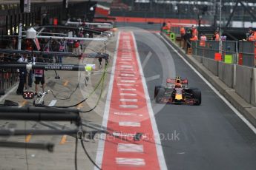
M 158 35 L 160 35 L 160 33 L 158 33 Z M 166 44 L 168 44 L 169 47 L 171 47 L 172 50 L 175 50 L 174 47 L 171 46 L 171 44 L 168 43 L 168 41 L 165 40 L 165 38 L 163 38 L 162 35 L 160 35 L 160 37 L 163 39 L 163 41 L 165 41 Z M 229 106 L 230 109 L 232 109 L 232 111 L 241 119 L 243 120 L 244 123 L 246 123 L 247 126 L 249 126 L 250 129 L 252 129 L 253 132 L 255 132 L 256 134 L 256 128 L 255 126 L 252 125 L 252 123 L 249 122 L 249 120 L 247 120 L 246 118 L 244 118 L 244 116 L 242 114 L 240 114 L 240 112 L 234 108 L 234 106 L 232 105 L 232 103 L 229 103 L 228 100 L 226 100 L 226 98 L 224 98 L 223 95 L 220 94 L 220 92 L 217 91 L 217 89 L 214 88 L 214 86 L 212 86 L 209 81 L 206 80 L 206 78 L 203 77 L 203 75 L 200 74 L 200 72 L 197 71 L 197 69 L 195 69 L 191 64 L 188 63 L 188 61 L 186 61 L 186 59 L 183 57 L 183 55 L 180 55 L 180 53 L 176 52 L 177 55 L 180 56 L 180 58 L 183 59 L 183 61 L 188 64 L 188 66 L 194 70 L 195 73 L 197 73 L 197 75 L 212 89 L 212 91 L 214 91 L 216 93 L 216 95 L 218 95 L 221 100 L 223 100 L 224 103 L 226 103 L 227 106 Z

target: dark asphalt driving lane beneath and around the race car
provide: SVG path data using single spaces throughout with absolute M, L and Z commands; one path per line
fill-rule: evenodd
M 161 66 L 166 61 L 157 57 L 154 47 L 148 47 L 145 41 L 138 41 L 142 36 L 147 36 L 145 34 L 134 33 L 141 63 L 148 59 L 149 51 L 152 53 L 143 67 L 146 80 L 160 75 L 160 78 L 146 81 L 146 84 L 168 169 L 255 169 L 255 133 L 169 47 L 171 56 L 168 57 L 173 58 L 176 75 L 188 78 L 189 86 L 201 90 L 202 104 L 169 104 L 157 112 L 159 104 L 153 100 L 154 86 L 165 85 L 162 82 L 165 81 L 165 69 L 168 66 Z M 168 72 L 167 75 L 173 74 Z

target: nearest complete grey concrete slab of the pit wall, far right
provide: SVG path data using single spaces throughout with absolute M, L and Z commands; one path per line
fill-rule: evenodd
M 234 89 L 248 103 L 251 103 L 252 98 L 252 70 L 252 67 L 236 66 Z

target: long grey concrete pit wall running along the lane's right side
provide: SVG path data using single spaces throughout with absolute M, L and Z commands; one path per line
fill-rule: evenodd
M 187 55 L 168 36 L 161 34 L 220 94 L 256 126 L 256 69 L 254 67 L 226 64 L 211 58 Z

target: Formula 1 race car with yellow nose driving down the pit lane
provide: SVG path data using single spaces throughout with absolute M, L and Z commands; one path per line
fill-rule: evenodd
M 188 88 L 187 79 L 167 78 L 166 87 L 155 86 L 154 99 L 157 103 L 200 105 L 201 91 L 197 88 Z

